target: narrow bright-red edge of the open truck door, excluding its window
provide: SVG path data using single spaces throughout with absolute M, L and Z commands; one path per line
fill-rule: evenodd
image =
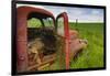
M 64 18 L 64 37 L 65 37 L 65 63 L 66 69 L 69 69 L 69 26 L 68 26 L 68 17 L 66 12 L 61 13 L 58 18 Z

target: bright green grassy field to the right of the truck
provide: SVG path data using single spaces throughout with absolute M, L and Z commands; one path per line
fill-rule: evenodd
M 88 46 L 70 68 L 103 67 L 103 23 L 69 23 L 72 30 L 78 30 L 81 39 L 88 41 Z

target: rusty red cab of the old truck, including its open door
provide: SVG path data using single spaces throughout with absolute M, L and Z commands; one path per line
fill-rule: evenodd
M 55 61 L 57 36 L 64 40 L 65 68 L 69 69 L 69 54 L 75 45 L 74 37 L 78 39 L 78 33 L 69 30 L 66 12 L 62 12 L 55 19 L 53 13 L 41 8 L 19 7 L 16 9 L 18 72 L 40 70 L 50 66 Z M 75 43 L 81 45 L 80 47 L 77 45 L 76 50 L 84 47 L 79 40 Z M 46 62 L 43 61 L 44 58 L 47 58 Z M 31 63 L 33 61 L 34 64 Z

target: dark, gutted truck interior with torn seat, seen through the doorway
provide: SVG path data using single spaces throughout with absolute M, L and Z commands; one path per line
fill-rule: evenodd
M 47 63 L 54 62 L 57 51 L 56 41 L 53 19 L 47 14 L 30 13 L 28 17 L 29 70 L 42 69 L 48 66 Z

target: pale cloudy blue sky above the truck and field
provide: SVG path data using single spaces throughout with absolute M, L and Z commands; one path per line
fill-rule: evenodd
M 103 22 L 103 9 L 35 6 L 35 4 L 33 7 L 46 9 L 51 11 L 55 15 L 55 18 L 62 12 L 67 12 L 69 22 L 75 22 L 76 19 L 78 20 L 78 22 Z

